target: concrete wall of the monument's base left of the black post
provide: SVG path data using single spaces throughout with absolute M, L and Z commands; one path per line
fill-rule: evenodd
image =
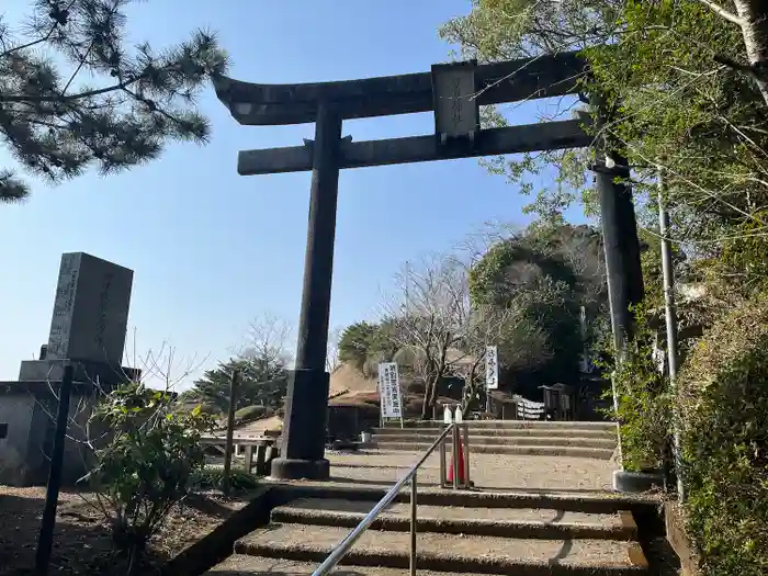
M 30 472 L 27 447 L 34 405 L 32 395 L 0 396 L 0 422 L 8 425 L 8 434 L 0 438 L 0 484 L 26 484 Z

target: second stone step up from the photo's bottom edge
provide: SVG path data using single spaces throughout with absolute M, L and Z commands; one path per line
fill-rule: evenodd
M 236 554 L 296 562 L 323 562 L 348 528 L 271 523 L 235 543 Z M 342 560 L 347 566 L 407 568 L 408 532 L 365 531 Z M 521 576 L 631 576 L 647 574 L 634 542 L 618 540 L 529 540 L 422 532 L 417 567 L 426 571 Z

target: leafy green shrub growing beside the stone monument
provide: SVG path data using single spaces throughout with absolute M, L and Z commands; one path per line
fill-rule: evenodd
M 203 468 L 200 437 L 213 420 L 200 407 L 173 410 L 170 394 L 131 383 L 106 396 L 91 422 L 112 433 L 86 479 L 112 526 L 115 546 L 133 557 L 187 495 L 191 474 Z

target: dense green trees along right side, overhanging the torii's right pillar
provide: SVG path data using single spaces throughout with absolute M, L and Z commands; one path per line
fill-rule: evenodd
M 481 61 L 580 50 L 589 63 L 579 98 L 564 99 L 558 113 L 568 117 L 586 108 L 588 94 L 599 97 L 610 121 L 596 135 L 612 149 L 611 159 L 631 170 L 640 236 L 650 248 L 635 339 L 615 375 L 624 465 L 659 465 L 677 430 L 679 496 L 702 574 L 765 574 L 768 7 L 750 0 L 475 0 L 470 14 L 445 23 L 441 34 L 463 57 Z M 485 124 L 507 123 L 505 112 L 485 110 Z M 541 222 L 552 222 L 577 201 L 597 215 L 589 170 L 596 160 L 587 150 L 568 150 L 486 166 L 531 195 L 529 210 Z M 554 185 L 537 187 L 550 167 Z M 686 336 L 676 383 L 658 371 L 658 202 L 669 212 Z

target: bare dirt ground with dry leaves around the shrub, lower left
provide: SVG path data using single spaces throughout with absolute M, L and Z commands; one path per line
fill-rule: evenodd
M 45 488 L 0 486 L 0 576 L 31 575 L 45 502 Z M 112 551 L 109 527 L 89 494 L 64 492 L 58 500 L 49 574 L 63 576 L 121 575 L 127 561 Z M 138 574 L 156 574 L 157 566 L 207 534 L 245 506 L 236 497 L 192 495 L 177 507 L 161 533 L 150 542 L 151 564 Z

